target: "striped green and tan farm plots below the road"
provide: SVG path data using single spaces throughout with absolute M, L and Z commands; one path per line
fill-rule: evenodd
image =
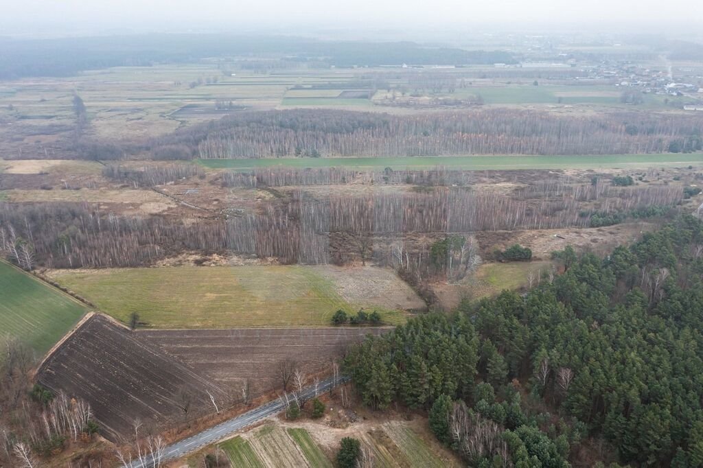
M 379 468 L 442 468 L 456 463 L 430 447 L 411 424 L 387 422 L 373 425 L 354 424 L 334 429 L 323 424 L 307 423 L 290 427 L 271 422 L 247 431 L 220 444 L 233 467 L 332 468 L 333 457 L 344 436 L 359 438 L 373 454 L 373 466 Z

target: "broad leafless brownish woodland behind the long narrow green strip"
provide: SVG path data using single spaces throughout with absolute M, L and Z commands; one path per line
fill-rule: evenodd
M 602 155 L 700 150 L 702 127 L 697 115 L 636 112 L 575 117 L 515 109 L 412 116 L 283 110 L 241 112 L 150 145 L 157 159 Z

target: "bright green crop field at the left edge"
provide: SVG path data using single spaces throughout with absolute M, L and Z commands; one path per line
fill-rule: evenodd
M 86 312 L 82 304 L 0 261 L 0 339 L 49 351 Z

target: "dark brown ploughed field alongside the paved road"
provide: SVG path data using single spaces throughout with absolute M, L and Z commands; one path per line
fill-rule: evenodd
M 314 375 L 368 333 L 389 328 L 144 330 L 131 332 L 96 315 L 86 320 L 44 362 L 38 381 L 53 391 L 88 401 L 103 435 L 131 434 L 135 417 L 164 427 L 240 402 L 245 382 L 250 396 L 280 389 L 276 366 L 295 360 Z M 187 396 L 187 397 L 184 397 Z

